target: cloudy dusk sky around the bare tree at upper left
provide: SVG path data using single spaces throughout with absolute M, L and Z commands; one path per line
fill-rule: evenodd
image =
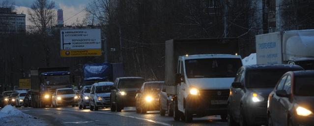
M 0 0 L 2 3 L 4 0 Z M 9 2 L 15 3 L 15 8 L 17 13 L 24 13 L 26 14 L 26 25 L 32 25 L 28 21 L 28 9 L 31 6 L 34 0 L 9 0 Z M 86 5 L 93 0 L 53 0 L 55 1 L 55 9 L 57 14 L 57 9 L 63 10 L 63 20 L 67 20 L 68 18 L 74 16 L 78 12 L 82 11 L 86 8 Z M 71 19 L 64 22 L 64 25 L 72 25 L 76 22 L 76 20 L 82 21 L 84 16 L 86 15 L 85 11 L 77 14 L 76 16 L 72 17 Z

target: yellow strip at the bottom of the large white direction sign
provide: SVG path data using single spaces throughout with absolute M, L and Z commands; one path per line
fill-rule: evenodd
M 90 57 L 101 56 L 101 49 L 61 50 L 61 57 Z

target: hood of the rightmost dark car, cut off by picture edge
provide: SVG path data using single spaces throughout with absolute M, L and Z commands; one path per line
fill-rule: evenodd
M 314 113 L 314 96 L 294 96 L 295 103 Z

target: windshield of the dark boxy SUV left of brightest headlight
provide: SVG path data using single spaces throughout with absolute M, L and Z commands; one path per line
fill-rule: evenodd
M 121 80 L 118 88 L 141 88 L 143 83 L 144 79 Z

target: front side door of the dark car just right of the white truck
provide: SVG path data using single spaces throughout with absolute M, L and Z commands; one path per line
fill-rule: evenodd
M 232 95 L 233 95 L 232 100 L 234 102 L 233 107 L 232 107 L 232 109 L 233 109 L 232 111 L 233 111 L 235 119 L 239 119 L 239 117 L 240 117 L 241 98 L 245 94 L 245 92 L 244 92 L 245 72 L 246 71 L 244 69 L 242 69 L 242 72 L 240 73 L 239 78 L 237 78 L 237 82 L 241 83 L 242 88 L 233 89 L 233 92 L 232 92 Z

